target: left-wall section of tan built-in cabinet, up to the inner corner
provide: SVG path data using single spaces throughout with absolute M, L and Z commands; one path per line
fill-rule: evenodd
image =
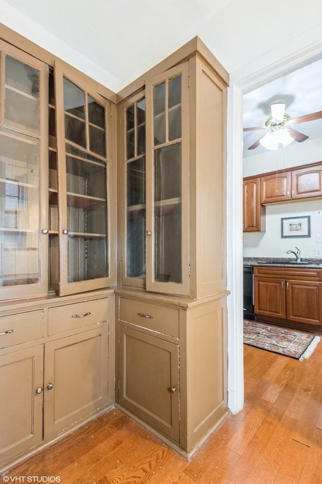
M 114 94 L 34 49 L 0 42 L 0 469 L 114 403 Z

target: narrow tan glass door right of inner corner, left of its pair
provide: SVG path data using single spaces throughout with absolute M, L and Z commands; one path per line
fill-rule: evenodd
M 122 282 L 136 287 L 145 286 L 145 97 L 142 93 L 122 107 L 122 128 L 125 149 L 122 182 L 125 191 L 125 247 Z

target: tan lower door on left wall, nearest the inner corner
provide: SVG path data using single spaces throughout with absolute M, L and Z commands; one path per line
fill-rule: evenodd
M 107 326 L 45 344 L 46 439 L 105 405 L 107 391 Z

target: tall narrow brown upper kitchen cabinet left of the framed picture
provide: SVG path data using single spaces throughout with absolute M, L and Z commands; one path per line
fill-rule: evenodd
M 266 208 L 261 205 L 260 178 L 247 178 L 243 181 L 243 230 L 244 232 L 264 232 Z

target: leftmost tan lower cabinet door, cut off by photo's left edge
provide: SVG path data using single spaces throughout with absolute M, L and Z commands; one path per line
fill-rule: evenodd
M 0 467 L 42 441 L 43 364 L 43 345 L 0 356 Z

